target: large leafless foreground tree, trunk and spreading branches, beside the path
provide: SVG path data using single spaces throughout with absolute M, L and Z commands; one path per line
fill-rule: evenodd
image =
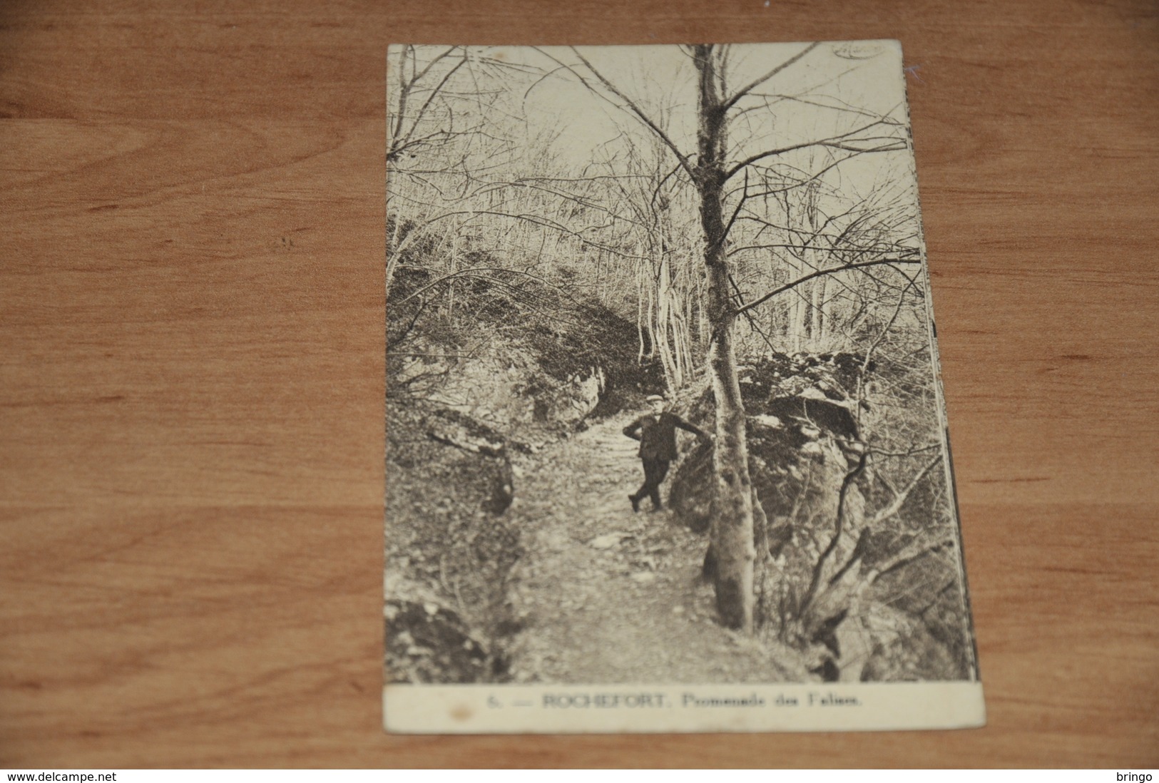
M 759 526 L 755 520 L 764 517 L 752 490 L 745 444 L 745 411 L 741 397 L 735 347 L 737 319 L 779 293 L 802 284 L 846 270 L 865 270 L 877 265 L 919 263 L 917 253 L 883 257 L 881 254 L 857 255 L 828 266 L 816 264 L 777 288 L 763 292 L 751 301 L 737 301 L 732 279 L 728 242 L 730 233 L 750 198 L 763 197 L 777 190 L 808 186 L 821 173 L 807 173 L 786 182 L 785 171 L 775 164 L 790 153 L 802 149 L 826 149 L 841 153 L 829 164 L 838 164 L 854 155 L 905 149 L 901 124 L 888 116 L 861 116 L 848 130 L 822 138 L 783 145 L 767 145 L 759 149 L 731 145 L 730 132 L 746 127 L 752 116 L 771 111 L 782 100 L 766 89 L 778 74 L 809 57 L 818 44 L 802 47 L 782 63 L 756 79 L 730 87 L 728 46 L 695 45 L 685 49 L 697 74 L 697 145 L 694 151 L 681 149 L 665 132 L 661 123 L 649 116 L 641 103 L 629 97 L 606 78 L 588 58 L 573 50 L 575 60 L 564 61 L 554 56 L 557 66 L 578 79 L 593 93 L 633 116 L 669 151 L 675 164 L 695 189 L 700 232 L 704 241 L 701 261 L 705 270 L 705 312 L 709 337 L 707 367 L 716 402 L 714 449 L 715 500 L 710 530 L 710 547 L 717 562 L 716 603 L 726 625 L 751 632 L 753 628 L 753 580 L 757 550 L 755 536 Z M 865 115 L 867 112 L 859 111 Z M 767 118 L 765 118 L 767 122 Z M 743 184 L 735 184 L 737 182 Z M 730 190 L 731 188 L 731 190 Z M 803 249 L 811 249 L 823 226 L 816 203 L 807 206 L 812 236 L 806 237 Z M 831 248 L 829 248 L 831 249 Z M 819 310 L 819 307 L 817 308 Z

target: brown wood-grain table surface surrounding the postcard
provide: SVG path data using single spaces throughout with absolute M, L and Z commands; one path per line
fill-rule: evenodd
M 384 734 L 387 43 L 819 38 L 912 66 L 989 725 Z M 1159 766 L 1157 147 L 1144 0 L 8 0 L 0 767 Z

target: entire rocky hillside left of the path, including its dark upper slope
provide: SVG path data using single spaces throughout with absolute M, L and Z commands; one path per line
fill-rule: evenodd
M 468 275 L 459 262 L 486 271 Z M 519 492 L 511 455 L 663 385 L 658 367 L 639 360 L 630 310 L 624 317 L 505 263 L 486 251 L 447 258 L 420 240 L 388 292 L 387 668 L 396 681 L 505 676 L 496 661 L 517 625 L 506 592 L 523 553 L 508 513 Z

